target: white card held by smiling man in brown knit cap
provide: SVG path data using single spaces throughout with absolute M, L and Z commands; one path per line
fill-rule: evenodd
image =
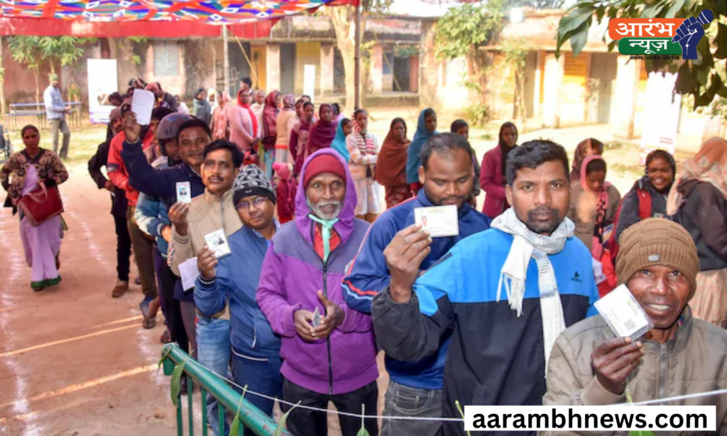
M 626 285 L 621 285 L 595 302 L 595 308 L 603 316 L 616 336 L 636 340 L 654 327 Z

